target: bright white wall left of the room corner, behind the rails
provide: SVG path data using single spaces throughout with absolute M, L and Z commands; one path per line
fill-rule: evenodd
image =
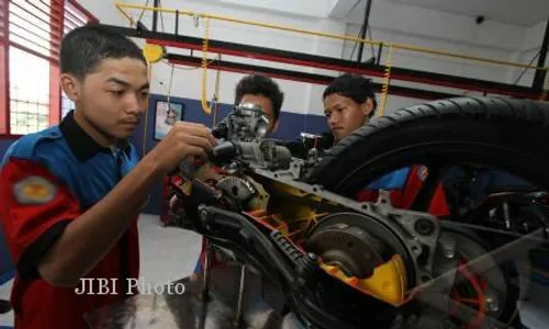
M 299 1 L 296 1 L 299 2 Z M 321 7 L 326 1 L 316 1 L 316 7 Z M 168 8 L 180 7 L 179 2 L 176 1 L 163 1 L 163 4 Z M 195 10 L 198 12 L 210 12 L 216 14 L 223 14 L 226 16 L 234 16 L 244 20 L 254 20 L 259 22 L 268 22 L 272 24 L 295 26 L 299 29 L 307 29 L 313 31 L 334 33 L 344 35 L 345 34 L 345 23 L 343 22 L 332 22 L 326 19 L 311 13 L 311 15 L 302 14 L 290 14 L 289 12 L 281 14 L 281 12 L 273 13 L 269 11 L 261 10 L 250 10 L 244 7 L 229 8 L 225 5 L 210 5 L 204 3 L 195 4 L 193 2 L 187 2 L 186 8 L 190 10 Z M 310 7 L 311 8 L 311 7 Z M 144 21 L 149 23 L 144 15 Z M 180 23 L 179 31 L 184 35 L 202 37 L 204 35 L 204 22 L 201 22 L 197 27 L 191 19 L 183 19 Z M 173 31 L 175 22 L 173 20 L 165 16 L 165 30 Z M 343 47 L 343 41 L 329 41 L 325 38 L 318 38 L 314 36 L 294 34 L 283 31 L 273 31 L 261 27 L 253 27 L 245 25 L 237 25 L 233 23 L 211 21 L 210 23 L 210 37 L 213 39 L 221 39 L 227 42 L 242 43 L 254 46 L 264 46 L 276 49 L 300 52 L 306 54 L 322 55 L 334 58 L 339 58 Z M 189 52 L 179 50 L 170 48 L 170 52 L 181 53 L 189 55 Z M 195 56 L 202 56 L 201 52 L 194 52 Z M 214 58 L 211 54 L 209 58 Z M 255 60 L 251 58 L 240 58 L 234 56 L 223 55 L 223 60 L 235 61 L 235 63 L 246 63 L 250 65 L 261 65 L 273 68 L 284 68 L 290 70 L 311 72 L 311 73 L 322 73 L 322 70 L 305 68 L 302 66 L 277 64 L 270 61 Z M 328 71 L 327 75 L 336 76 L 333 71 Z M 219 98 L 223 103 L 232 104 L 234 102 L 234 88 L 238 80 L 243 77 L 242 73 L 233 72 L 221 72 L 221 79 L 219 84 Z M 215 71 L 209 70 L 206 83 L 203 84 L 203 72 L 201 69 L 176 69 L 173 78 L 171 78 L 171 66 L 164 63 L 154 64 L 153 66 L 153 81 L 152 90 L 155 93 L 170 93 L 177 97 L 200 99 L 202 97 L 202 90 L 205 89 L 205 94 L 208 99 L 212 99 L 215 92 Z M 171 80 L 171 88 L 170 86 Z M 192 82 L 190 82 L 192 81 Z M 282 105 L 282 111 L 285 113 L 299 113 L 299 114 L 322 114 L 323 104 L 321 94 L 324 91 L 324 86 L 314 86 L 310 83 L 288 81 L 288 80 L 277 80 L 280 84 L 281 90 L 284 92 L 284 103 Z

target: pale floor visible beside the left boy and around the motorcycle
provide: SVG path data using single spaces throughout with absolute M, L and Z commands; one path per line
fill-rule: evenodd
M 165 284 L 188 276 L 200 251 L 200 237 L 191 231 L 164 227 L 157 216 L 142 215 L 139 218 L 142 246 L 142 279 L 155 284 Z M 0 286 L 0 299 L 9 299 L 11 282 Z M 524 325 L 529 329 L 549 328 L 549 287 L 533 283 L 527 302 L 522 307 Z M 11 313 L 0 315 L 2 326 L 12 326 Z

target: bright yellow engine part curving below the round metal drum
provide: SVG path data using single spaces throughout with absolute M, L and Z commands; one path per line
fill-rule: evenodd
M 390 261 L 377 266 L 373 275 L 365 280 L 347 276 L 338 266 L 322 263 L 321 268 L 328 274 L 372 297 L 393 306 L 404 304 L 407 282 L 404 262 L 400 254 L 393 256 Z

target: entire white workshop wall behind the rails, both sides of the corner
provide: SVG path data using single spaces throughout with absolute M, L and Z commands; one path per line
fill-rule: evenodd
M 127 26 L 127 21 L 114 9 L 111 0 L 80 0 L 102 22 Z M 145 0 L 126 1 L 127 3 L 144 4 Z M 150 1 L 152 2 L 152 1 Z M 337 0 L 163 0 L 163 5 L 171 9 L 191 10 L 233 16 L 243 20 L 254 20 L 265 23 L 288 25 L 298 29 L 322 31 L 337 35 L 357 36 L 362 22 L 363 8 L 354 7 L 356 0 L 345 2 L 348 8 L 341 9 L 341 1 Z M 350 4 L 349 4 L 350 3 Z M 139 15 L 138 10 L 130 10 L 134 18 Z M 328 18 L 329 15 L 329 18 Z M 145 24 L 150 25 L 152 12 L 143 14 Z M 171 14 L 164 14 L 164 30 L 173 31 L 175 20 Z M 159 25 L 163 29 L 163 25 Z M 514 26 L 486 20 L 477 24 L 474 19 L 466 15 L 444 13 L 424 8 L 410 7 L 384 0 L 373 0 L 370 15 L 370 32 L 373 39 L 391 43 L 428 47 L 439 50 L 453 52 L 467 55 L 488 57 L 500 60 L 527 63 L 529 54 L 536 52 L 540 44 L 540 23 L 530 29 Z M 179 32 L 183 35 L 202 37 L 203 22 L 194 25 L 191 18 L 180 19 Z M 542 31 L 541 31 L 542 35 Z M 306 54 L 349 58 L 354 44 L 325 37 L 295 34 L 292 32 L 274 31 L 264 27 L 239 25 L 220 21 L 212 21 L 210 36 L 219 41 L 228 41 L 248 45 L 293 50 Z M 367 35 L 368 37 L 368 35 Z M 539 41 L 538 41 L 539 39 Z M 139 41 L 139 44 L 143 44 Z M 189 55 L 190 52 L 169 48 L 170 53 Z M 357 50 L 356 50 L 357 52 Z M 356 53 L 354 59 L 356 58 Z M 201 57 L 201 52 L 194 52 Z M 213 58 L 213 54 L 210 58 Z M 371 56 L 371 47 L 365 46 L 363 58 Z M 386 52 L 382 56 L 385 60 Z M 274 64 L 251 58 L 223 56 L 223 59 L 246 64 L 258 64 L 277 68 L 316 72 L 337 76 L 339 72 L 324 71 L 292 65 Z M 393 53 L 395 66 L 417 70 L 434 71 L 491 81 L 511 82 L 516 79 L 517 70 L 496 65 L 478 64 L 470 60 L 442 58 L 425 54 L 395 50 Z M 170 83 L 171 67 L 167 64 L 155 64 L 153 69 L 152 91 L 167 93 Z M 239 73 L 222 72 L 220 93 L 221 102 L 232 103 L 234 87 L 243 77 Z M 526 81 L 525 75 L 522 81 Z M 529 78 L 531 80 L 531 78 Z M 381 82 L 381 79 L 374 79 Z M 206 95 L 210 100 L 214 92 L 215 71 L 208 71 Z M 285 93 L 282 111 L 302 114 L 323 114 L 322 92 L 325 87 L 304 82 L 279 80 Z M 435 91 L 456 94 L 474 94 L 463 90 L 423 86 L 411 82 L 392 81 L 400 86 L 424 88 Z M 171 81 L 171 94 L 176 97 L 200 99 L 202 94 L 202 70 L 176 69 Z M 385 112 L 395 109 L 423 103 L 424 100 L 389 95 Z

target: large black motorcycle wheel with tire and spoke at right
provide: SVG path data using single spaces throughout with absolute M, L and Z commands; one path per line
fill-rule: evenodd
M 549 190 L 549 103 L 503 98 L 457 98 L 410 106 L 374 118 L 330 149 L 309 183 L 355 197 L 369 183 L 410 166 L 428 168 L 412 208 L 429 197 L 451 166 L 480 163 Z M 501 268 L 509 284 L 507 271 Z M 517 314 L 507 294 L 500 320 Z M 516 320 L 516 319 L 515 319 Z

